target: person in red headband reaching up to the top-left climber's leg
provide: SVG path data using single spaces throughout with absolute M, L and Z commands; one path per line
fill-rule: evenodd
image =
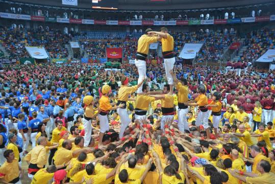
M 126 76 L 121 76 L 120 81 L 121 81 L 121 87 L 118 90 L 118 101 L 117 101 L 117 106 L 119 106 L 120 104 L 124 104 L 124 107 L 119 107 L 117 108 L 117 113 L 120 116 L 121 119 L 121 126 L 120 126 L 120 132 L 119 132 L 119 138 L 121 139 L 124 131 L 126 130 L 127 126 L 129 125 L 129 123 L 131 122 L 127 110 L 126 110 L 126 102 L 128 101 L 129 95 L 131 95 L 132 93 L 134 93 L 137 88 L 139 88 L 143 82 L 144 82 L 145 78 L 143 78 L 143 80 L 138 83 L 138 85 L 135 86 L 131 86 L 129 87 L 129 79 Z

